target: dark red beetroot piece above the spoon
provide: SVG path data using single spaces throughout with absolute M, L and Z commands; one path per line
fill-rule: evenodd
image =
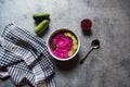
M 92 22 L 89 18 L 84 18 L 81 21 L 82 30 L 90 30 L 91 26 L 92 26 Z

